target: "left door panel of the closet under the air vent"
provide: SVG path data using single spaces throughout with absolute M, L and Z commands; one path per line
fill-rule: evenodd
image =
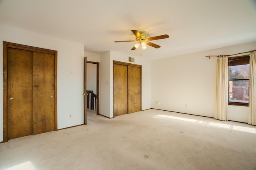
M 128 113 L 128 67 L 114 64 L 114 116 Z

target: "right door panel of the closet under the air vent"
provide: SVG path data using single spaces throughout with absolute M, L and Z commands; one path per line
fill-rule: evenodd
M 141 111 L 141 67 L 128 66 L 128 113 Z

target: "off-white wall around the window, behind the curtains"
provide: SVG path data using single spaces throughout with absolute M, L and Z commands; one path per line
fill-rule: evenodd
M 256 49 L 256 42 L 152 61 L 152 108 L 214 117 L 216 57 Z M 160 105 L 155 102 L 160 102 Z M 228 119 L 248 122 L 248 107 L 228 106 Z

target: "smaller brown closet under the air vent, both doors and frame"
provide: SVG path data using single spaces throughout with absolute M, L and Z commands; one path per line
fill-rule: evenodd
M 114 116 L 141 111 L 142 66 L 114 61 Z

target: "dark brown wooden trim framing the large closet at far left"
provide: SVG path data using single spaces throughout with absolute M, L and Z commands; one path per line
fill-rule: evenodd
M 50 49 L 43 49 L 39 47 L 32 47 L 28 45 L 22 45 L 22 44 L 17 44 L 17 43 L 10 43 L 3 41 L 3 142 L 8 141 L 8 109 L 7 109 L 7 92 L 8 92 L 8 84 L 7 84 L 7 78 L 8 78 L 8 72 L 7 72 L 7 58 L 8 58 L 8 48 L 15 48 L 15 49 L 23 49 L 23 50 L 28 50 L 28 51 L 37 51 L 40 53 L 48 53 L 48 54 L 53 54 L 55 57 L 55 72 L 54 72 L 54 77 L 55 77 L 55 85 L 54 85 L 54 114 L 55 114 L 55 131 L 58 130 L 58 124 L 57 124 L 57 51 L 55 50 L 50 50 Z

